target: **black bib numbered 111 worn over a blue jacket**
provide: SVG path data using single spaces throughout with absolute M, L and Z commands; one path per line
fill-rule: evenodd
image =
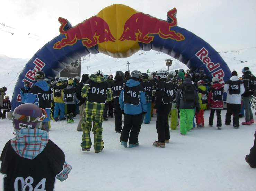
M 33 86 L 29 93 L 37 95 L 38 105 L 42 109 L 51 108 L 51 91 L 50 88 L 47 91 L 42 90 L 38 86 Z

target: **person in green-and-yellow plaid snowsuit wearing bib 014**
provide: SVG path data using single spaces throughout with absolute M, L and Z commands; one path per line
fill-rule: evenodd
M 85 115 L 82 122 L 82 143 L 83 151 L 91 149 L 91 123 L 93 122 L 92 132 L 94 134 L 94 150 L 99 153 L 103 149 L 102 122 L 105 103 L 112 100 L 111 86 L 104 79 L 104 74 L 100 70 L 92 74 L 82 88 L 81 96 L 87 98 L 85 104 Z

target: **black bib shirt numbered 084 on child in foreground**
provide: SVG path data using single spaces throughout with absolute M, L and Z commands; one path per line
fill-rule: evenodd
M 9 140 L 3 148 L 0 161 L 4 191 L 53 190 L 55 178 L 64 168 L 65 154 L 50 139 L 44 150 L 34 159 L 20 157 Z

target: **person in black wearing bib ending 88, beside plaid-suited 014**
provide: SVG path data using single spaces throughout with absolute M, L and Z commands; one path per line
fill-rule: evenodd
M 114 101 L 114 112 L 115 112 L 115 131 L 121 133 L 122 131 L 122 112 L 119 104 L 119 96 L 122 91 L 122 87 L 125 85 L 126 81 L 123 80 L 123 72 L 116 71 L 116 76 L 112 82 L 112 92 Z

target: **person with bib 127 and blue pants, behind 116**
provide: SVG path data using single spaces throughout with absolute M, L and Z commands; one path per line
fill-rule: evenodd
M 149 124 L 150 115 L 151 115 L 151 104 L 153 101 L 153 97 L 155 96 L 155 92 L 153 91 L 154 84 L 148 80 L 148 74 L 142 73 L 141 74 L 142 82 L 140 82 L 141 86 L 143 86 L 146 92 L 146 104 L 147 104 L 147 113 L 142 115 L 142 123 L 143 117 L 145 117 L 145 124 Z

